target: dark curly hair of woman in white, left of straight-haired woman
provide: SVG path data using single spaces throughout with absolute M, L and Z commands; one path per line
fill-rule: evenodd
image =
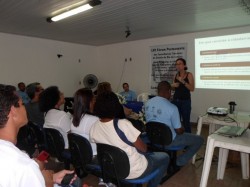
M 60 91 L 57 86 L 46 88 L 39 96 L 39 107 L 41 112 L 48 112 L 55 108 L 60 100 Z

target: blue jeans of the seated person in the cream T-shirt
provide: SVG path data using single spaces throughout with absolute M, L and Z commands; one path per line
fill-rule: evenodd
M 147 187 L 157 187 L 164 174 L 167 172 L 169 164 L 169 156 L 164 152 L 153 152 L 145 155 L 148 160 L 148 167 L 141 175 L 141 177 L 152 173 L 155 169 L 159 169 L 158 175 L 148 182 Z

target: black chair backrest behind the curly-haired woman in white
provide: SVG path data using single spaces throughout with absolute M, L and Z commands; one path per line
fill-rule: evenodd
M 56 157 L 59 161 L 63 161 L 63 151 L 65 147 L 64 139 L 62 134 L 56 129 L 44 128 L 48 152 L 50 156 Z

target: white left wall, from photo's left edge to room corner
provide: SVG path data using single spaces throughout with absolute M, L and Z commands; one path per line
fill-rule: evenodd
M 79 81 L 95 71 L 91 64 L 96 63 L 96 47 L 3 33 L 0 43 L 0 82 L 4 84 L 40 82 L 44 87 L 57 85 L 72 96 L 82 86 Z

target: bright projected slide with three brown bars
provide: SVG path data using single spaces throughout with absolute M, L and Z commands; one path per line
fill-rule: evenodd
M 195 39 L 195 86 L 250 90 L 250 33 Z

